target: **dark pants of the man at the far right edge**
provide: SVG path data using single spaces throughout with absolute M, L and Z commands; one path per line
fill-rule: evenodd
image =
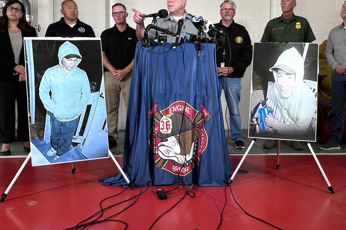
M 332 134 L 331 138 L 341 142 L 344 133 L 345 103 L 346 103 L 346 75 L 334 71 L 332 73 Z

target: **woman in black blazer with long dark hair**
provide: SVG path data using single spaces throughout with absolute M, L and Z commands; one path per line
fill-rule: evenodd
M 29 119 L 23 37 L 36 37 L 36 30 L 25 20 L 25 7 L 9 0 L 0 17 L 0 143 L 1 155 L 10 155 L 15 139 L 15 102 L 17 102 L 17 141 L 24 141 L 30 152 Z

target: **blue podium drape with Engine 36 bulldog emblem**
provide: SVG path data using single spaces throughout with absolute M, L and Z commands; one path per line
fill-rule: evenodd
M 218 96 L 215 45 L 137 44 L 123 170 L 132 185 L 223 186 L 231 174 Z M 126 185 L 117 176 L 104 185 Z

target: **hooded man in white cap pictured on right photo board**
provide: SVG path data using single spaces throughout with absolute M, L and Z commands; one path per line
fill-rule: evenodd
M 267 115 L 266 124 L 278 134 L 293 136 L 306 133 L 316 110 L 316 99 L 311 88 L 303 82 L 302 56 L 294 47 L 287 49 L 269 71 L 274 75 L 275 95 L 284 119 L 278 121 L 273 115 Z

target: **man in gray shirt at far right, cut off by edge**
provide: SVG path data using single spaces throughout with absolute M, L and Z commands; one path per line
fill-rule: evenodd
M 346 1 L 341 8 L 343 23 L 329 32 L 326 58 L 334 69 L 332 73 L 332 135 L 331 139 L 319 149 L 340 149 L 341 137 L 344 133 L 344 110 L 346 103 Z

